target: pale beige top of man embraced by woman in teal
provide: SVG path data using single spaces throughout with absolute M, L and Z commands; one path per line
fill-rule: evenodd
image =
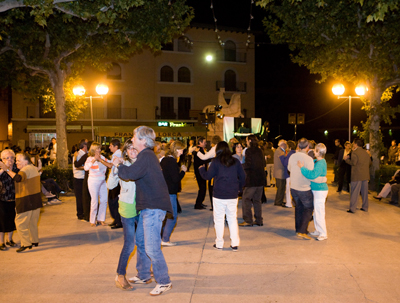
M 288 164 L 288 171 L 290 171 L 290 188 L 298 191 L 311 190 L 310 180 L 301 173 L 300 167 L 297 165 L 298 161 L 304 163 L 305 168 L 309 170 L 314 169 L 314 161 L 309 155 L 300 151 L 291 155 Z

